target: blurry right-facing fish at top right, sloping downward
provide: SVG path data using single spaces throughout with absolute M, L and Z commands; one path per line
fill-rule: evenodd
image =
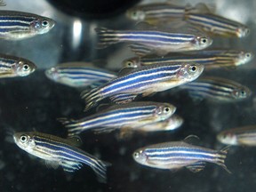
M 211 12 L 188 12 L 185 15 L 185 20 L 215 36 L 236 36 L 241 38 L 248 36 L 250 33 L 250 29 L 244 24 L 234 20 L 228 20 Z

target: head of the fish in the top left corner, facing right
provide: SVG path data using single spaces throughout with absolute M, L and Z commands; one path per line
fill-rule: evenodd
M 31 23 L 30 27 L 33 28 L 36 33 L 44 34 L 44 33 L 47 33 L 49 30 L 51 30 L 54 27 L 54 25 L 55 25 L 54 20 L 46 17 L 40 17 L 34 20 Z

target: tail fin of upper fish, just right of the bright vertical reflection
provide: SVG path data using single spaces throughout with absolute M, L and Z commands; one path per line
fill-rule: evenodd
M 108 28 L 95 28 L 97 35 L 99 36 L 99 43 L 97 48 L 103 49 L 110 44 L 116 44 L 120 38 L 116 36 L 116 31 Z

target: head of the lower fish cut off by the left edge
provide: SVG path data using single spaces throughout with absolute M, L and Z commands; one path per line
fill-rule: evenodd
M 36 65 L 30 60 L 20 59 L 14 65 L 13 70 L 18 76 L 28 76 L 36 70 Z

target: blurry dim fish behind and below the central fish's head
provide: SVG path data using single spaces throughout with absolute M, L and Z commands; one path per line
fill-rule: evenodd
M 204 76 L 179 88 L 188 91 L 194 99 L 207 99 L 215 102 L 244 100 L 252 94 L 248 87 L 217 76 Z

